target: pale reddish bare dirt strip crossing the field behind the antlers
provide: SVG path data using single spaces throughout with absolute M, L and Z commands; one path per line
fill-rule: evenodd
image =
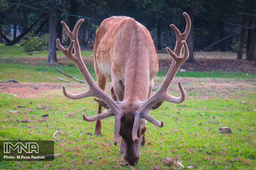
M 152 94 L 161 86 L 163 78 L 156 78 Z M 253 80 L 233 80 L 227 82 L 226 79 L 198 79 L 198 78 L 175 78 L 170 85 L 169 93 L 174 96 L 179 96 L 178 82 L 181 82 L 187 93 L 193 92 L 200 94 L 202 98 L 211 98 L 217 94 L 232 95 L 233 92 L 239 90 L 255 89 L 255 81 Z M 0 93 L 13 95 L 17 98 L 38 98 L 47 97 L 49 94 L 62 94 L 62 84 L 67 86 L 68 91 L 78 93 L 85 91 L 88 85 L 72 84 L 72 83 L 0 83 Z M 107 83 L 106 92 L 110 94 L 111 82 Z M 47 92 L 47 94 L 42 94 Z M 50 93 L 49 93 L 50 92 Z

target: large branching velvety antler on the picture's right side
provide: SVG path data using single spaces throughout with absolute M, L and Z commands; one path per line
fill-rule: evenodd
M 137 132 L 138 132 L 138 124 L 141 118 L 145 118 L 150 123 L 153 123 L 154 125 L 162 128 L 164 126 L 164 122 L 157 121 L 154 117 L 150 116 L 148 114 L 148 111 L 150 108 L 155 106 L 158 103 L 162 103 L 163 101 L 168 101 L 172 103 L 182 103 L 182 101 L 186 98 L 186 92 L 183 89 L 181 83 L 179 82 L 179 89 L 181 96 L 180 97 L 174 97 L 169 94 L 167 94 L 167 89 L 169 88 L 173 78 L 175 77 L 175 74 L 178 72 L 180 66 L 188 59 L 189 51 L 188 46 L 186 43 L 186 39 L 188 37 L 190 27 L 191 27 L 191 21 L 186 12 L 183 13 L 183 15 L 186 18 L 186 29 L 185 32 L 180 33 L 179 29 L 175 27 L 175 25 L 171 24 L 170 26 L 176 33 L 177 41 L 174 49 L 174 53 L 170 48 L 166 48 L 167 52 L 172 56 L 173 61 L 172 65 L 161 85 L 161 87 L 157 90 L 157 92 L 152 95 L 150 98 L 147 99 L 145 103 L 141 105 L 141 107 L 136 111 L 135 118 L 134 118 L 134 124 L 132 129 L 132 139 L 133 141 L 138 141 Z M 184 54 L 182 57 L 179 57 L 181 55 L 182 47 L 184 48 Z

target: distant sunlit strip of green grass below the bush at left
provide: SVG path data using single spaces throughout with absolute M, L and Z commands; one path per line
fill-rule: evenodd
M 32 55 L 29 55 L 32 54 Z M 93 55 L 93 52 L 82 51 L 82 56 Z M 57 51 L 57 56 L 64 56 L 60 51 Z M 25 52 L 22 46 L 1 46 L 0 58 L 23 58 L 23 57 L 48 57 L 48 51 L 38 51 L 37 53 Z

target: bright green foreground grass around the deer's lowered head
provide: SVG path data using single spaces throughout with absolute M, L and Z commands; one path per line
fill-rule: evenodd
M 141 159 L 135 168 L 169 169 L 162 159 L 178 155 L 184 166 L 195 165 L 195 169 L 253 169 L 256 165 L 255 89 L 233 94 L 242 97 L 247 105 L 236 98 L 201 99 L 193 96 L 188 96 L 182 104 L 164 103 L 150 114 L 163 120 L 165 125 L 156 128 L 147 124 L 147 146 L 141 147 Z M 84 122 L 82 114 L 97 112 L 97 104 L 91 98 L 70 100 L 60 91 L 44 95 L 48 96 L 47 100 L 45 97 L 20 99 L 0 95 L 0 112 L 3 113 L 0 115 L 0 139 L 53 140 L 52 134 L 59 128 L 62 133 L 58 138 L 64 142 L 54 140 L 54 145 L 55 153 L 62 156 L 52 162 L 1 162 L 0 168 L 130 169 L 120 165 L 119 144 L 113 145 L 114 117 L 102 121 L 103 137 L 87 135 L 87 132 L 94 132 L 94 123 Z M 26 107 L 17 109 L 19 105 Z M 41 105 L 46 109 L 37 108 Z M 19 110 L 21 114 L 9 114 L 6 109 Z M 16 121 L 39 120 L 43 114 L 49 114 L 47 122 Z M 233 133 L 219 133 L 221 126 L 228 126 Z M 245 160 L 249 164 L 245 164 Z M 92 164 L 89 165 L 89 161 Z

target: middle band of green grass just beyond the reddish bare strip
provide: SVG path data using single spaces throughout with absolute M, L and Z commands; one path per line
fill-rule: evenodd
M 12 63 L 12 61 L 5 61 Z M 57 66 L 63 72 L 75 77 L 77 79 L 83 79 L 81 73 L 75 66 L 75 64 L 70 63 L 67 66 L 59 65 Z M 94 72 L 93 65 L 87 65 L 87 69 L 92 75 L 93 79 L 96 81 L 96 76 Z M 20 82 L 49 82 L 55 83 L 60 82 L 58 78 L 66 79 L 71 81 L 71 79 L 65 77 L 63 74 L 55 69 L 55 66 L 47 64 L 4 64 L 0 61 L 0 80 L 7 81 L 9 79 L 15 79 Z M 159 71 L 158 77 L 165 77 L 166 72 Z M 255 74 L 248 74 L 238 72 L 178 72 L 176 77 L 189 77 L 189 78 L 225 78 L 225 79 L 255 79 Z

